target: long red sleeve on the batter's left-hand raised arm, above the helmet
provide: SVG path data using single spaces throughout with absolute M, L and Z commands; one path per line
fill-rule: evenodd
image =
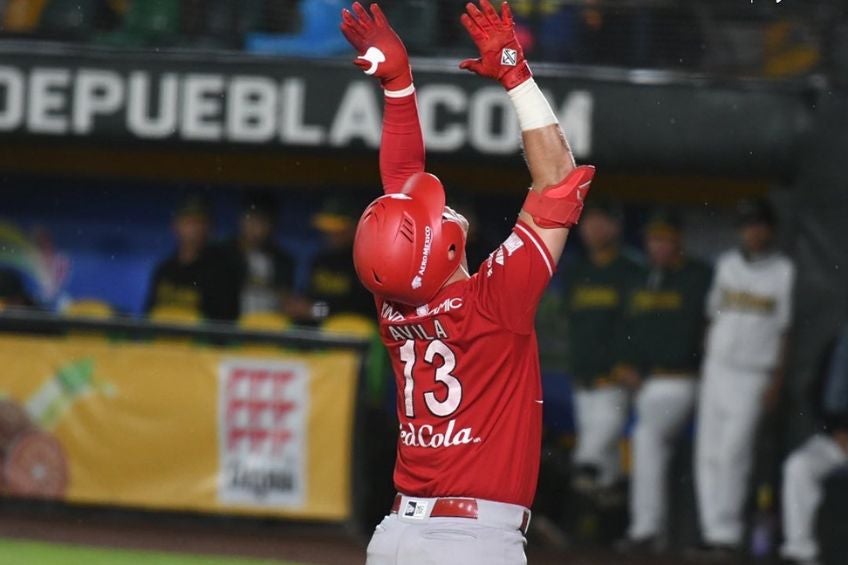
M 414 173 L 424 170 L 424 137 L 415 94 L 386 97 L 383 138 L 380 142 L 380 177 L 386 194 L 400 192 Z

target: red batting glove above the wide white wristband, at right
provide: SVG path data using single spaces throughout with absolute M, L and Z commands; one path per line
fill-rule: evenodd
M 480 50 L 480 57 L 464 60 L 459 68 L 493 78 L 507 90 L 512 90 L 533 76 L 524 58 L 524 50 L 515 37 L 512 11 L 504 2 L 498 16 L 489 0 L 480 0 L 480 8 L 482 12 L 469 2 L 465 5 L 466 13 L 460 17 Z

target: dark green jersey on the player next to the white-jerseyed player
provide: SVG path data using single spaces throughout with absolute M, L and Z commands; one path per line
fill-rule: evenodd
M 643 269 L 626 299 L 626 361 L 645 375 L 696 373 L 711 278 L 710 268 L 693 259 L 673 269 Z

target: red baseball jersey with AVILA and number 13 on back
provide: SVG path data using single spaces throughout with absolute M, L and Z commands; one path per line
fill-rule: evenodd
M 377 299 L 398 388 L 399 492 L 532 504 L 542 433 L 534 318 L 554 267 L 518 222 L 477 273 L 429 304 Z

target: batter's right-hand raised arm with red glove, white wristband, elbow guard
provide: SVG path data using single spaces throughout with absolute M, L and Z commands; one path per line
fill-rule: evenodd
M 569 229 L 580 218 L 594 167 L 575 165 L 559 120 L 533 80 L 515 36 L 509 5 L 504 2 L 498 14 L 488 0 L 480 0 L 480 8 L 468 3 L 461 21 L 480 57 L 466 59 L 459 66 L 500 82 L 518 114 L 533 183 L 519 218 L 558 261 Z

